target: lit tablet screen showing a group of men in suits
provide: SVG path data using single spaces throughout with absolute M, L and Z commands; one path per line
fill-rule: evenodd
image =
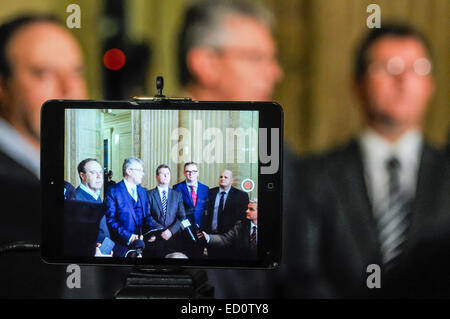
M 95 256 L 223 260 L 233 256 L 234 247 L 248 246 L 250 233 L 223 247 L 207 245 L 198 235 L 248 228 L 249 198 L 258 194 L 257 111 L 89 110 L 94 111 L 89 116 L 84 111 L 66 111 L 66 138 L 74 143 L 66 145 L 65 179 L 76 187 L 72 201 L 104 205 L 99 220 L 91 219 L 100 230 Z M 176 126 L 161 126 L 153 120 L 159 116 Z M 80 119 L 79 128 L 71 127 Z M 138 127 L 133 119 L 150 127 Z M 78 138 L 85 129 L 96 132 L 90 142 Z M 103 143 L 96 139 L 101 136 Z M 136 153 L 139 157 L 130 156 Z M 105 189 L 103 172 L 115 168 L 117 176 L 118 162 L 123 180 Z M 248 180 L 253 187 L 246 189 Z M 105 254 L 106 245 L 112 251 Z

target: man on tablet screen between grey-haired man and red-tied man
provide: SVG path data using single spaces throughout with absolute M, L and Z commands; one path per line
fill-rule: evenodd
M 150 212 L 154 220 L 154 228 L 160 229 L 161 238 L 154 244 L 153 253 L 164 257 L 181 249 L 181 238 L 178 234 L 181 221 L 186 219 L 181 193 L 169 188 L 170 167 L 161 164 L 156 169 L 158 185 L 148 191 Z

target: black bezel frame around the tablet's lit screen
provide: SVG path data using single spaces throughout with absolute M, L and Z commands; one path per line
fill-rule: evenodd
M 279 130 L 279 169 L 258 174 L 258 257 L 256 260 L 150 259 L 67 257 L 62 255 L 64 198 L 64 136 L 66 109 L 172 109 L 259 111 L 259 127 Z M 261 143 L 261 140 L 260 140 Z M 261 146 L 259 146 L 261 147 Z M 48 263 L 142 265 L 151 267 L 274 268 L 281 258 L 283 110 L 274 102 L 216 102 L 190 100 L 92 101 L 51 100 L 41 110 L 41 255 Z M 272 150 L 269 151 L 272 152 Z M 267 185 L 272 183 L 273 189 Z M 55 241 L 56 239 L 56 241 Z

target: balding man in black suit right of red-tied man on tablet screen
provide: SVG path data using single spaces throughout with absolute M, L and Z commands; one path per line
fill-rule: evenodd
M 219 187 L 209 192 L 209 201 L 204 215 L 203 229 L 211 234 L 223 234 L 229 231 L 238 220 L 245 219 L 249 202 L 248 195 L 233 187 L 233 172 L 224 170 L 219 177 Z M 225 258 L 224 249 L 208 249 L 210 258 Z

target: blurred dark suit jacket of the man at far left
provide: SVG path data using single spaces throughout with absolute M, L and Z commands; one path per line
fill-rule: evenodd
M 0 200 L 0 245 L 40 243 L 40 182 L 1 150 Z M 129 272 L 81 266 L 81 288 L 68 289 L 66 268 L 45 264 L 40 251 L 0 254 L 0 298 L 111 298 Z M 116 279 L 111 280 L 111 276 Z

